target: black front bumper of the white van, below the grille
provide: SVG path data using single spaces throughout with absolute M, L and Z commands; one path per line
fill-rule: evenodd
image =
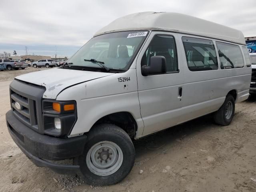
M 86 135 L 74 138 L 55 138 L 43 135 L 20 122 L 12 111 L 6 113 L 8 131 L 26 156 L 39 167 L 48 167 L 58 173 L 78 172 L 78 165 L 60 165 L 47 160 L 64 160 L 82 155 Z

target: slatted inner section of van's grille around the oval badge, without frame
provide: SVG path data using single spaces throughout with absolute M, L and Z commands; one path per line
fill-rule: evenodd
M 36 101 L 22 96 L 10 90 L 11 94 L 11 105 L 12 111 L 14 114 L 26 124 L 33 126 L 34 128 L 38 129 L 38 122 L 37 122 L 37 114 L 36 114 Z M 18 102 L 21 106 L 21 110 L 17 109 L 15 103 Z

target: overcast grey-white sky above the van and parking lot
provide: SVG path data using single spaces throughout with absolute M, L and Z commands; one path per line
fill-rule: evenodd
M 243 0 L 0 0 L 0 53 L 70 57 L 118 17 L 178 12 L 256 36 L 256 3 Z

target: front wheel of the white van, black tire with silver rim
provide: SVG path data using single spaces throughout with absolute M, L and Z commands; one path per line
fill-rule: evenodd
M 93 127 L 88 134 L 84 153 L 78 158 L 86 183 L 94 186 L 120 182 L 130 173 L 134 161 L 135 150 L 131 138 L 112 124 Z

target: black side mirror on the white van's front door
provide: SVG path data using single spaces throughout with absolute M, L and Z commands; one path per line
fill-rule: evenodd
M 166 73 L 166 59 L 164 56 L 152 56 L 150 58 L 150 66 L 142 66 L 141 73 L 143 76 L 152 74 Z

